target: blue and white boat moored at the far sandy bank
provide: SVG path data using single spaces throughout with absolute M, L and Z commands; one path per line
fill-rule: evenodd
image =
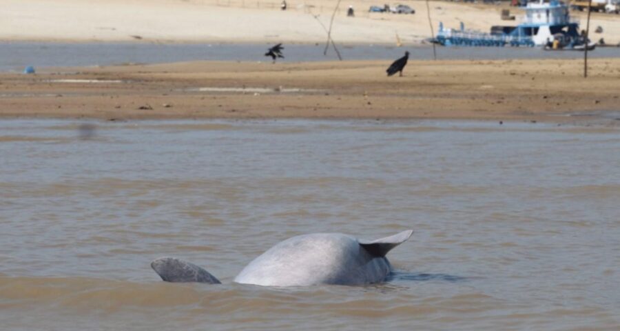
M 459 30 L 444 28 L 434 42 L 444 46 L 546 46 L 575 48 L 584 44 L 585 36 L 579 34 L 579 21 L 570 17 L 568 5 L 558 0 L 528 2 L 521 22 L 517 26 L 493 26 L 490 32 L 466 30 L 461 23 Z M 585 46 L 584 46 L 585 47 Z

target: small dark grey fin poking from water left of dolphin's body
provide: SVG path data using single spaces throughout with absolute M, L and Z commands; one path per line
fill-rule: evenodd
M 151 262 L 151 268 L 157 272 L 163 281 L 171 283 L 221 283 L 214 275 L 209 274 L 207 270 L 198 265 L 174 257 L 156 259 Z

